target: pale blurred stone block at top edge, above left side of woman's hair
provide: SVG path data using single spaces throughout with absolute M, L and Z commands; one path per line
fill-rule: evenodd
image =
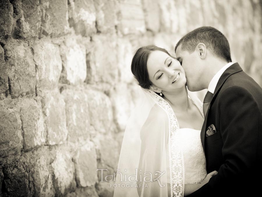
M 144 12 L 140 0 L 120 1 L 120 29 L 123 34 L 146 32 Z

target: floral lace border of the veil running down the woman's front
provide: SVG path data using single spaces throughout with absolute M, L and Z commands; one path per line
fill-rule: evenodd
M 170 190 L 172 197 L 183 197 L 185 189 L 185 167 L 183 152 L 178 147 L 179 129 L 176 115 L 167 101 L 152 90 L 143 89 L 161 107 L 169 119 L 168 146 L 169 146 L 169 168 L 170 168 Z M 190 97 L 192 100 L 192 98 Z M 196 103 L 195 103 L 196 104 Z

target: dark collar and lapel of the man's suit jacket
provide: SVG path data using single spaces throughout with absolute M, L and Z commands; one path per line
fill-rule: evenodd
M 240 72 L 240 71 L 242 71 L 242 69 L 239 66 L 239 64 L 238 63 L 234 63 L 234 64 L 232 64 L 230 67 L 228 67 L 225 70 L 225 72 L 221 75 L 221 77 L 219 78 L 219 80 L 217 82 L 217 86 L 215 88 L 215 91 L 214 91 L 212 100 L 210 102 L 210 105 L 208 106 L 208 110 L 206 112 L 206 117 L 205 117 L 202 129 L 201 129 L 201 134 L 200 134 L 202 146 L 203 146 L 203 149 L 204 149 L 205 153 L 206 153 L 206 151 L 205 151 L 206 124 L 207 124 L 207 120 L 208 120 L 209 109 L 210 109 L 211 105 L 213 104 L 215 98 L 217 97 L 217 94 L 219 93 L 219 90 L 221 89 L 221 87 L 225 83 L 226 79 L 229 76 L 231 76 L 232 74 L 235 74 L 235 73 Z

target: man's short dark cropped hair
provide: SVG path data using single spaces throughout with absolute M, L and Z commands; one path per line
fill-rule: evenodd
M 192 53 L 198 43 L 204 43 L 206 48 L 217 57 L 222 58 L 227 62 L 232 62 L 228 40 L 214 27 L 199 27 L 187 33 L 178 41 L 175 51 L 176 48 L 182 44 L 182 50 L 187 50 Z

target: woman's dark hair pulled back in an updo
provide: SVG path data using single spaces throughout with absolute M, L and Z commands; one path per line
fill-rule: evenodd
M 149 80 L 148 76 L 147 60 L 149 54 L 155 50 L 163 51 L 172 57 L 164 48 L 160 48 L 155 45 L 147 45 L 140 47 L 132 59 L 131 71 L 134 77 L 137 79 L 139 86 L 144 89 L 149 89 L 149 87 L 152 85 L 152 82 Z

